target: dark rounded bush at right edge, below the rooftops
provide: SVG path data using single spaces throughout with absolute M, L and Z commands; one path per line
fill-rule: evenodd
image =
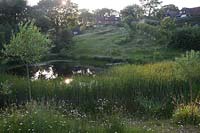
M 200 27 L 187 26 L 176 29 L 169 46 L 183 50 L 200 50 Z

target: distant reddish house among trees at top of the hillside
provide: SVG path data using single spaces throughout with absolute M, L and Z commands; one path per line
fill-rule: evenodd
M 96 18 L 96 24 L 99 25 L 112 25 L 118 24 L 121 21 L 120 17 L 116 17 L 115 15 L 112 16 L 99 16 Z

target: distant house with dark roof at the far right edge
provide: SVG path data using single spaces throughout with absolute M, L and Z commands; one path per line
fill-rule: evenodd
M 181 9 L 180 17 L 187 17 L 187 16 L 200 16 L 200 7 Z

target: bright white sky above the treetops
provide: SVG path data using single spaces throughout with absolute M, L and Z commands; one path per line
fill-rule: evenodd
M 29 5 L 35 5 L 40 0 L 28 0 Z M 121 10 L 127 5 L 139 4 L 139 0 L 71 0 L 79 5 L 79 8 L 87 8 L 90 10 L 98 8 L 111 8 Z M 200 0 L 162 0 L 162 5 L 175 4 L 180 9 L 183 7 L 198 7 Z

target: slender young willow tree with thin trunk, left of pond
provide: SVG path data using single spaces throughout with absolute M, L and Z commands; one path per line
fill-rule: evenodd
M 9 44 L 4 45 L 3 53 L 8 58 L 20 59 L 26 66 L 28 93 L 31 98 L 29 65 L 37 63 L 48 53 L 51 41 L 40 33 L 33 22 L 19 24 L 19 32 L 13 34 Z

